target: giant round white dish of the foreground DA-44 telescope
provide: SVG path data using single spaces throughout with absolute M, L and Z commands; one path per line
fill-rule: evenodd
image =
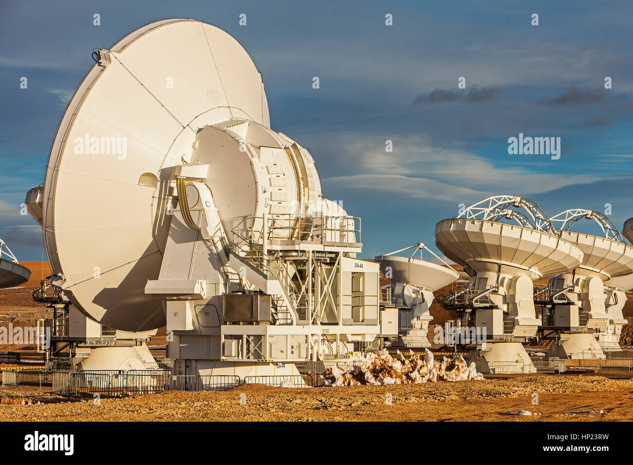
M 248 53 L 203 22 L 148 24 L 100 59 L 53 142 L 44 239 L 79 311 L 141 332 L 165 325 L 160 296 L 144 293 L 160 273 L 171 222 L 161 168 L 190 161 L 206 125 L 244 118 L 270 127 L 268 104 Z

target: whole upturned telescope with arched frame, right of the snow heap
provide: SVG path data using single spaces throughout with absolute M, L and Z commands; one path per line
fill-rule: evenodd
M 497 372 L 534 371 L 521 344 L 536 335 L 540 323 L 533 282 L 572 270 L 581 263 L 582 250 L 558 237 L 536 202 L 512 195 L 489 197 L 440 221 L 436 245 L 472 270 L 470 286 L 445 301 L 481 333 L 476 346 L 470 338 L 471 346 Z

